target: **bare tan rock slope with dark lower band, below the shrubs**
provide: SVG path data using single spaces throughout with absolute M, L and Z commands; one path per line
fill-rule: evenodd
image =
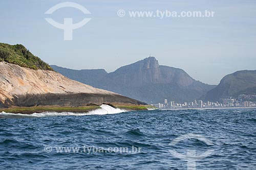
M 33 70 L 0 62 L 0 108 L 102 103 L 144 104 L 111 91 L 70 80 L 55 71 Z

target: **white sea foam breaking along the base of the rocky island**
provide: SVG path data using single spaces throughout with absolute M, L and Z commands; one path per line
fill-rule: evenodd
M 100 109 L 92 110 L 85 113 L 73 113 L 73 112 L 43 112 L 43 113 L 33 113 L 33 114 L 20 114 L 20 113 L 0 113 L 0 118 L 26 118 L 26 117 L 50 117 L 50 116 L 83 116 L 83 115 L 103 115 L 103 114 L 116 114 L 125 112 L 126 110 L 121 110 L 113 108 L 109 105 L 101 105 Z

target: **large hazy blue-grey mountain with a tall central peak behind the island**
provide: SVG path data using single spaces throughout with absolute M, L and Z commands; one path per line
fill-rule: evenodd
M 109 74 L 102 69 L 72 70 L 51 66 L 73 80 L 147 103 L 163 102 L 164 99 L 193 101 L 216 87 L 196 81 L 182 69 L 159 65 L 155 57 L 122 66 Z

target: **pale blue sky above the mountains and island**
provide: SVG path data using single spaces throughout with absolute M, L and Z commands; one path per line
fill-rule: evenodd
M 66 1 L 0 1 L 1 42 L 24 44 L 49 64 L 73 69 L 118 67 L 155 56 L 161 65 L 184 69 L 208 84 L 241 69 L 256 69 L 256 1 L 69 1 L 91 14 L 62 8 Z M 117 11 L 215 11 L 212 18 L 131 18 Z M 63 40 L 63 30 L 50 25 L 73 18 L 92 18 Z

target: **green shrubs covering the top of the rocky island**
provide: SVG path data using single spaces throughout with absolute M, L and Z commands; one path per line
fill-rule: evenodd
M 53 70 L 49 64 L 34 56 L 22 44 L 0 43 L 0 62 L 5 61 L 31 69 Z

